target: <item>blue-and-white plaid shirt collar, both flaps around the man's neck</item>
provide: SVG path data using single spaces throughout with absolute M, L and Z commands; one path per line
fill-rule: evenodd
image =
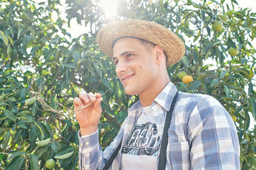
M 175 85 L 170 81 L 164 89 L 157 95 L 156 99 L 154 99 L 154 102 L 151 104 L 153 106 L 155 103 L 158 103 L 160 106 L 164 108 L 164 110 L 169 111 L 173 97 L 175 96 L 177 92 L 177 88 Z M 128 111 L 134 111 L 142 109 L 140 101 L 137 101 L 134 103 L 131 108 L 128 109 Z

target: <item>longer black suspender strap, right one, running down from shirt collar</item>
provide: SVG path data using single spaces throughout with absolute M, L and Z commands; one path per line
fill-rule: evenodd
M 173 98 L 173 101 L 172 101 L 171 108 L 166 113 L 166 118 L 165 118 L 165 122 L 164 122 L 163 137 L 162 137 L 162 141 L 161 141 L 161 148 L 160 148 L 159 160 L 158 160 L 158 166 L 157 166 L 158 170 L 165 169 L 166 151 L 167 151 L 167 144 L 168 144 L 168 129 L 169 129 L 170 124 L 171 124 L 172 112 L 173 112 L 173 109 L 174 109 L 174 106 L 175 106 L 175 103 L 177 101 L 178 96 L 179 96 L 179 91 L 176 92 L 176 94 Z

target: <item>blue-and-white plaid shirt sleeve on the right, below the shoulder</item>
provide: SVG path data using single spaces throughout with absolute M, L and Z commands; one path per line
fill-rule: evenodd
M 214 97 L 196 104 L 188 130 L 191 169 L 240 169 L 236 126 Z

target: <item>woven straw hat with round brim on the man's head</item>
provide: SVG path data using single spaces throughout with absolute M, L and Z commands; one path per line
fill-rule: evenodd
M 146 20 L 115 20 L 102 27 L 97 34 L 100 49 L 113 57 L 113 43 L 122 37 L 145 39 L 163 48 L 167 55 L 166 66 L 178 62 L 185 53 L 182 40 L 163 25 Z

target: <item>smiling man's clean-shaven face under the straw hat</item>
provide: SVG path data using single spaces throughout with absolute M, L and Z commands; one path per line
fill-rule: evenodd
M 158 67 L 154 46 L 136 38 L 121 38 L 113 46 L 116 74 L 126 94 L 143 94 L 157 81 Z

